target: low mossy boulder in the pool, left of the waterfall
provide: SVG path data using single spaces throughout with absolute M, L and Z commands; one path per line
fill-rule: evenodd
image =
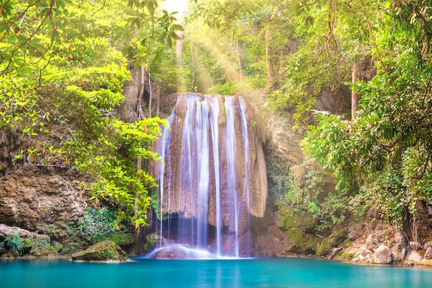
M 84 251 L 72 254 L 74 261 L 130 261 L 126 252 L 112 241 L 104 241 L 88 247 Z

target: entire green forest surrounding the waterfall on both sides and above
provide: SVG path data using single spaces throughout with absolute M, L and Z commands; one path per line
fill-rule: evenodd
M 25 147 L 3 162 L 88 172 L 93 198 L 117 206 L 116 225 L 148 223 L 156 183 L 141 159 L 157 160 L 150 147 L 164 121 L 151 104 L 133 123 L 111 114 L 133 63 L 161 95 L 264 94 L 337 179 L 320 198 L 321 171 L 298 189 L 273 165 L 279 209 L 312 215 L 320 230 L 377 206 L 417 238 L 418 209 L 432 201 L 431 1 L 163 5 L 1 0 L 0 125 Z M 328 95 L 334 104 L 323 105 Z

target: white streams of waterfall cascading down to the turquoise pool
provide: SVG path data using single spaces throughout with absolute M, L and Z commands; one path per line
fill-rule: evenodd
M 159 141 L 161 247 L 250 256 L 246 119 L 241 97 L 178 96 Z

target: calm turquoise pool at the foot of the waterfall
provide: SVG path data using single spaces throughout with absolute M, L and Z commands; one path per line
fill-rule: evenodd
M 432 287 L 432 269 L 311 258 L 72 263 L 1 260 L 0 287 Z

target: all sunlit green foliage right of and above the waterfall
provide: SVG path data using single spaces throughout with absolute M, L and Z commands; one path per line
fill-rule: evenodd
M 213 76 L 213 87 L 266 88 L 267 104 L 306 136 L 306 154 L 337 178 L 335 198 L 360 216 L 378 206 L 390 223 L 415 227 L 419 205 L 432 204 L 431 1 L 202 0 L 194 7 L 186 31 L 205 23 L 211 43 L 202 35 L 186 41 L 202 54 L 223 47 L 230 63 L 219 61 L 224 79 Z M 373 79 L 351 83 L 364 56 L 373 59 Z M 320 111 L 324 94 L 349 102 L 350 90 L 361 96 L 355 119 L 349 107 Z M 285 191 L 279 196 L 291 193 L 288 182 L 276 185 Z

